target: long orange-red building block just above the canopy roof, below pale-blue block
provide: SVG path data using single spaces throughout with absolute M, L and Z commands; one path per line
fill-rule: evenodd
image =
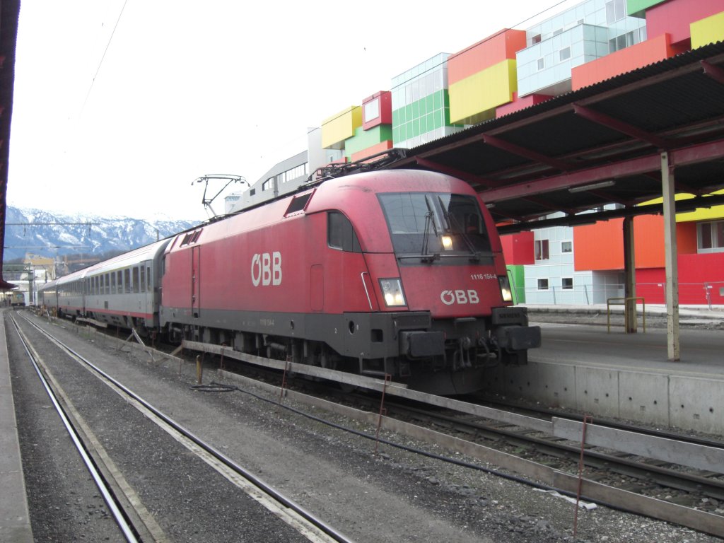
M 631 72 L 636 68 L 668 59 L 679 52 L 681 52 L 680 48 L 671 45 L 669 35 L 662 34 L 657 38 L 636 43 L 634 46 L 574 67 L 571 70 L 571 87 L 573 90 L 578 90 L 616 75 Z

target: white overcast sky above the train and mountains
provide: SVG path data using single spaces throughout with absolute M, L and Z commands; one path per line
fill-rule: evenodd
M 197 177 L 253 183 L 408 68 L 573 4 L 25 0 L 7 201 L 206 219 Z

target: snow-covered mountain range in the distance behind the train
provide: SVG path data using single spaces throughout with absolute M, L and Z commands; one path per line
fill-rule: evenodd
M 55 257 L 130 251 L 196 224 L 198 222 L 163 217 L 146 220 L 120 216 L 61 215 L 8 206 L 4 260 L 22 258 L 25 253 Z

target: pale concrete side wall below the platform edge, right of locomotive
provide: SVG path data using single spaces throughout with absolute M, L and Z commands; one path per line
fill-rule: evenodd
M 492 369 L 487 392 L 554 408 L 724 435 L 724 379 L 530 362 Z

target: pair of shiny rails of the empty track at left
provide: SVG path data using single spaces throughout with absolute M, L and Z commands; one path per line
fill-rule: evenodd
M 145 508 L 141 508 L 141 510 L 136 509 L 132 514 L 128 514 L 129 509 L 135 508 L 136 505 L 139 504 L 138 497 L 131 494 L 119 495 L 122 494 L 122 492 L 130 492 L 129 486 L 122 481 L 122 476 L 117 472 L 117 469 L 112 466 L 112 461 L 109 462 L 106 453 L 98 450 L 98 442 L 90 442 L 87 434 L 77 432 L 75 427 L 83 426 L 83 422 L 75 418 L 77 417 L 77 412 L 75 412 L 75 408 L 72 405 L 72 400 L 69 396 L 64 395 L 64 392 L 55 381 L 51 369 L 43 363 L 41 356 L 38 355 L 38 352 L 33 348 L 33 340 L 30 339 L 29 334 L 23 332 L 17 323 L 17 316 L 12 315 L 9 319 L 12 321 L 13 327 L 22 341 L 28 358 L 30 358 L 35 366 L 39 379 L 43 382 L 43 386 L 46 388 L 52 402 L 59 411 L 59 415 L 62 417 L 68 432 L 77 444 L 77 450 L 83 457 L 85 465 L 88 466 L 88 471 L 92 473 L 93 480 L 96 481 L 99 491 L 103 494 L 104 500 L 109 510 L 111 510 L 125 540 L 128 542 L 169 541 L 162 529 L 153 520 L 153 515 L 150 515 Z M 33 321 L 27 318 L 23 318 L 23 321 L 30 327 L 33 327 L 33 333 L 45 337 L 54 344 L 55 348 L 61 350 L 65 355 L 92 372 L 101 382 L 122 397 L 125 402 L 134 405 L 149 421 L 159 426 L 164 432 L 167 432 L 167 434 L 172 435 L 177 442 L 193 452 L 193 455 L 203 460 L 203 462 L 211 466 L 211 468 L 214 468 L 214 470 L 220 473 L 225 479 L 242 489 L 252 497 L 253 500 L 256 500 L 256 502 L 270 510 L 274 515 L 277 515 L 277 518 L 282 522 L 286 523 L 295 531 L 298 531 L 298 533 L 303 536 L 303 539 L 318 543 L 351 543 L 351 539 L 340 531 L 337 531 L 337 529 L 334 529 L 333 526 L 317 518 L 294 500 L 290 499 L 290 497 L 277 491 L 277 489 L 274 489 L 274 487 L 259 479 L 254 473 L 248 471 L 247 468 L 240 466 L 227 455 L 224 455 L 224 453 L 217 450 L 213 445 L 203 441 L 203 439 L 197 437 L 188 429 L 185 429 L 182 424 L 174 421 L 173 418 L 151 405 L 151 403 L 148 403 L 138 394 L 130 390 L 130 388 L 117 381 L 117 379 L 106 374 L 106 372 L 102 371 L 98 366 L 94 365 L 92 361 L 84 358 L 41 327 L 38 327 Z M 75 417 L 74 412 L 76 413 Z M 135 524 L 131 518 L 135 518 Z M 141 526 L 141 523 L 145 523 L 145 526 Z M 141 534 L 143 534 L 143 536 Z

